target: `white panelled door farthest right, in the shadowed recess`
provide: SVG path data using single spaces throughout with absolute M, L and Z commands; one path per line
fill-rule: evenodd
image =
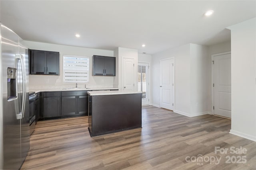
M 214 114 L 231 118 L 231 54 L 213 57 Z

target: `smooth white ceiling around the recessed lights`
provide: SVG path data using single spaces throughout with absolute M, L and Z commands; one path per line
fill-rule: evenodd
M 0 21 L 24 40 L 150 54 L 187 43 L 229 41 L 226 27 L 256 17 L 255 0 L 1 0 L 0 6 Z M 207 10 L 214 14 L 205 17 Z

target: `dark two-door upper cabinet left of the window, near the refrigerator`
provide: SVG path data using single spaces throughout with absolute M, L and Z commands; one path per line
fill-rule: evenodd
M 29 50 L 30 74 L 60 75 L 60 53 Z

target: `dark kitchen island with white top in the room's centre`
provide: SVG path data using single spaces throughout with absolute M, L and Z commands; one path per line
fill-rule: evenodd
M 88 130 L 91 137 L 141 128 L 141 92 L 88 93 Z

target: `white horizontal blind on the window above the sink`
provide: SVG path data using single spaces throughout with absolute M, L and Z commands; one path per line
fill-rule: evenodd
M 64 82 L 89 82 L 89 57 L 63 55 Z

